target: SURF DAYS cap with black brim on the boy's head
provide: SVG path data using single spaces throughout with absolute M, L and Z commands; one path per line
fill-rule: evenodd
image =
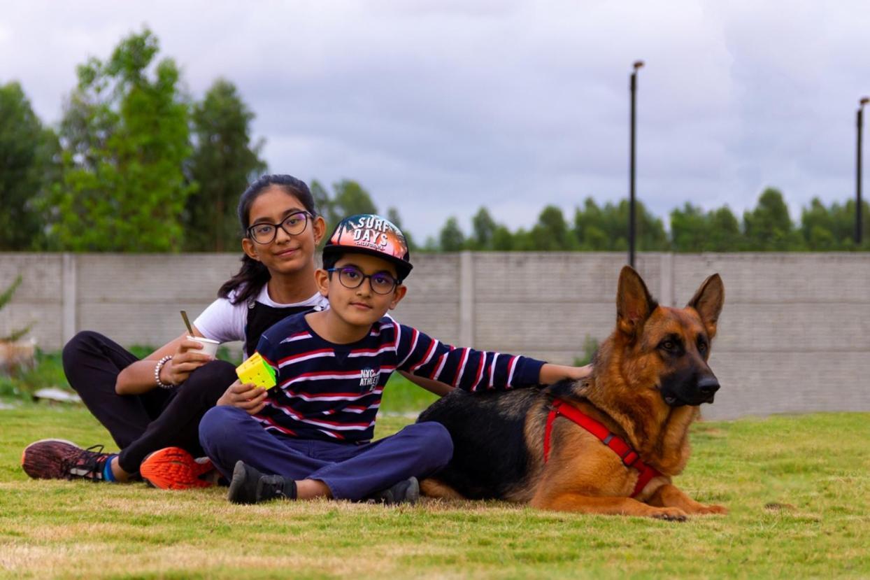
M 366 253 L 392 262 L 402 280 L 413 267 L 405 234 L 389 219 L 373 213 L 358 213 L 338 222 L 324 246 L 324 257 L 347 252 Z

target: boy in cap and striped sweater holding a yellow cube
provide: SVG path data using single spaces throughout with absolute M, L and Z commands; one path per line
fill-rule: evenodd
M 439 423 L 371 442 L 381 393 L 396 370 L 469 391 L 580 379 L 586 368 L 454 348 L 387 316 L 405 297 L 405 236 L 386 219 L 342 220 L 315 273 L 330 307 L 288 317 L 257 352 L 277 371 L 268 391 L 236 382 L 199 424 L 200 442 L 227 477 L 229 500 L 318 496 L 415 502 L 417 477 L 443 468 L 452 441 Z M 267 475 L 268 474 L 268 475 Z

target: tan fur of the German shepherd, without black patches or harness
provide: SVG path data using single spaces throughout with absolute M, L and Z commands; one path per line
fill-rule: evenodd
M 525 478 L 504 499 L 540 509 L 673 520 L 726 513 L 724 507 L 695 502 L 673 485 L 672 477 L 688 462 L 689 427 L 699 407 L 669 406 L 659 392 L 663 377 L 679 372 L 679 365 L 695 365 L 709 373 L 709 347 L 699 347 L 699 337 L 706 337 L 707 343 L 713 339 L 724 298 L 722 281 L 714 274 L 685 308 L 661 307 L 639 275 L 626 266 L 619 276 L 616 329 L 599 348 L 592 375 L 574 383 L 568 397 L 560 396 L 604 423 L 662 475 L 632 498 L 639 471 L 627 468 L 598 438 L 565 418 L 553 423 L 552 450 L 544 462 L 544 428 L 552 397 L 543 391 L 531 404 L 526 397 L 505 399 L 505 405 L 514 401 L 517 408 L 505 408 L 499 401 L 499 414 L 525 413 L 528 448 Z M 686 345 L 679 360 L 657 349 L 668 336 L 679 336 Z M 423 489 L 429 496 L 461 497 L 437 479 L 426 480 Z

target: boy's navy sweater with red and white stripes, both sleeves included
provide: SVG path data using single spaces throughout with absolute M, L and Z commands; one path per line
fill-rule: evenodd
M 452 347 L 389 316 L 361 341 L 334 344 L 315 334 L 305 314 L 269 328 L 257 352 L 276 369 L 278 385 L 254 418 L 276 434 L 303 439 L 371 441 L 387 379 L 396 370 L 466 391 L 529 387 L 543 361 Z

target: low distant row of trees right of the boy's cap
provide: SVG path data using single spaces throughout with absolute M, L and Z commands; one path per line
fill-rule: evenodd
M 862 200 L 863 214 L 870 205 Z M 458 252 L 587 251 L 622 252 L 628 249 L 627 199 L 600 206 L 587 198 L 566 218 L 561 208 L 546 206 L 529 229 L 511 231 L 481 207 L 472 217 L 472 231 L 465 233 L 455 217 L 447 219 L 438 239 L 428 239 L 424 249 Z M 826 206 L 816 198 L 793 223 L 782 192 L 768 187 L 756 206 L 742 219 L 728 206 L 704 211 L 686 203 L 670 215 L 670 230 L 640 201 L 635 207 L 636 248 L 646 252 L 830 252 L 870 250 L 870 226 L 863 222 L 862 243 L 855 245 L 855 202 Z

